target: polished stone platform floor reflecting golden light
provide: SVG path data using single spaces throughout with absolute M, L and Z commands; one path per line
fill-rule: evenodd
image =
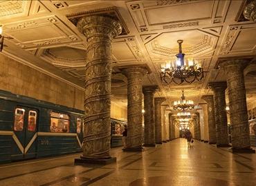
M 80 154 L 0 165 L 0 185 L 227 186 L 256 185 L 256 155 L 231 154 L 183 138 L 145 147 L 144 152 L 111 149 L 117 163 L 73 165 Z

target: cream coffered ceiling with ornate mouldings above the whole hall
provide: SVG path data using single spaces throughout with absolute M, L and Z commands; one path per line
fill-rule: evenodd
M 127 104 L 127 79 L 122 65 L 147 64 L 151 74 L 143 85 L 159 85 L 156 96 L 171 104 L 181 96 L 195 103 L 210 93 L 209 81 L 225 80 L 216 69 L 219 57 L 255 56 L 256 23 L 241 14 L 246 1 L 0 1 L 0 24 L 6 40 L 3 53 L 76 87 L 84 87 L 86 38 L 72 18 L 92 10 L 112 11 L 125 28 L 112 43 L 112 100 Z M 185 57 L 193 57 L 207 71 L 201 82 L 161 83 L 161 64 L 172 61 L 183 39 Z M 255 99 L 255 72 L 246 74 L 248 101 Z

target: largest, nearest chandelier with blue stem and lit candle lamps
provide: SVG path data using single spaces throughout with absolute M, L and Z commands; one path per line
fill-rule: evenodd
M 187 83 L 193 83 L 195 80 L 201 81 L 203 79 L 203 68 L 193 59 L 189 59 L 186 63 L 184 61 L 185 54 L 181 50 L 183 40 L 177 42 L 179 43 L 179 54 L 176 54 L 176 64 L 172 62 L 161 65 L 161 81 L 167 84 L 174 82 L 178 85 L 184 81 Z

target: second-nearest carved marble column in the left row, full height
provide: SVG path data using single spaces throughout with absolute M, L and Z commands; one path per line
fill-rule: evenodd
M 143 122 L 143 76 L 147 68 L 131 66 L 121 68 L 127 76 L 127 147 L 123 151 L 139 152 L 142 147 L 142 122 Z

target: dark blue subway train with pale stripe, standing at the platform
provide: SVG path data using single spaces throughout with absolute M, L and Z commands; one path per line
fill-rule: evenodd
M 0 90 L 0 163 L 82 152 L 84 111 Z M 125 122 L 111 119 L 111 147 Z

